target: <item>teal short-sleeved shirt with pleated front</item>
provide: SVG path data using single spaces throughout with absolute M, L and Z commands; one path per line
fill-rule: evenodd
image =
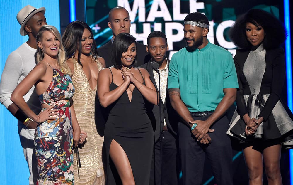
M 214 111 L 224 97 L 224 88 L 238 88 L 231 53 L 210 42 L 193 52 L 182 48 L 169 65 L 171 88 L 180 89 L 181 100 L 190 112 Z

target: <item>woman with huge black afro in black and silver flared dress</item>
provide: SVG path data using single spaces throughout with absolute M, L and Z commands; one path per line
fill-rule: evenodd
M 268 184 L 282 184 L 282 145 L 292 147 L 292 113 L 280 101 L 285 81 L 284 51 L 286 31 L 282 23 L 266 11 L 251 9 L 236 20 L 231 40 L 238 76 L 237 110 L 227 134 L 240 139 L 249 184 L 262 184 L 263 161 Z

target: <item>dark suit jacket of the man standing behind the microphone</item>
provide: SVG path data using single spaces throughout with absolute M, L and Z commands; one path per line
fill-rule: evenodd
M 169 59 L 167 59 L 167 60 L 168 60 L 168 64 L 169 64 L 170 60 Z M 149 61 L 148 63 L 146 63 L 140 67 L 146 69 L 149 72 L 150 80 L 154 84 L 156 90 L 158 91 L 158 87 L 156 85 L 156 81 L 154 78 L 153 68 L 151 66 L 151 61 Z M 164 120 L 164 118 L 165 118 L 168 130 L 171 133 L 173 133 L 174 135 L 177 135 L 177 125 L 178 125 L 179 117 L 178 117 L 177 112 L 171 106 L 168 88 L 166 89 L 165 102 L 163 102 L 160 97 L 160 104 L 161 104 L 161 118 L 162 118 L 162 120 Z M 160 108 L 159 108 L 159 105 L 152 105 L 150 103 L 146 104 L 146 106 L 147 106 L 149 119 L 151 120 L 151 123 L 154 128 L 154 137 L 155 137 L 155 142 L 156 142 L 160 138 L 160 126 L 161 126 L 161 128 L 163 128 L 163 122 L 161 122 L 161 124 L 160 124 Z

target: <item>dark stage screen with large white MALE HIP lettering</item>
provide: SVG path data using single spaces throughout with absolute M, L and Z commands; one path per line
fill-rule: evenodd
M 149 33 L 164 32 L 169 44 L 167 56 L 171 59 L 176 51 L 186 46 L 183 39 L 183 19 L 187 14 L 204 13 L 210 23 L 207 35 L 209 41 L 226 48 L 234 55 L 236 46 L 229 40 L 228 30 L 236 17 L 249 9 L 257 8 L 279 18 L 279 7 L 283 7 L 283 2 L 276 0 L 86 0 L 86 21 L 92 28 L 98 47 L 107 43 L 112 37 L 112 32 L 107 25 L 108 12 L 115 6 L 123 6 L 128 10 L 131 20 L 130 34 L 136 37 L 137 41 L 146 45 Z

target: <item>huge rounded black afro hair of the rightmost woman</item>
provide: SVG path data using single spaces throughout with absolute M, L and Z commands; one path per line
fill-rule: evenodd
M 279 19 L 266 11 L 251 9 L 239 17 L 229 31 L 230 39 L 239 48 L 250 49 L 252 46 L 246 39 L 246 23 L 263 27 L 263 48 L 266 50 L 280 47 L 287 37 L 284 25 Z

